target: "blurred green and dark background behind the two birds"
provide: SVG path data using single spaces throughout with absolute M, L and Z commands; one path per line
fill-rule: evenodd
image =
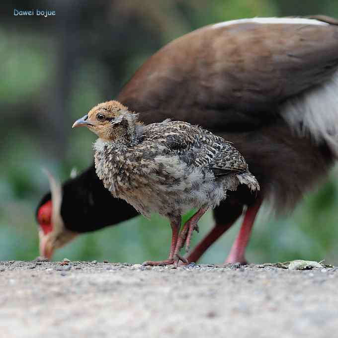
M 72 123 L 112 99 L 136 69 L 170 40 L 219 21 L 326 14 L 332 0 L 17 1 L 0 4 L 0 260 L 38 255 L 36 205 L 49 189 L 45 167 L 61 180 L 91 164 L 94 135 Z M 16 9 L 52 9 L 54 17 L 13 16 Z M 251 262 L 296 258 L 338 263 L 338 170 L 305 196 L 292 215 L 275 219 L 266 206 L 254 227 Z M 212 215 L 200 222 L 202 238 Z M 222 262 L 239 224 L 202 258 Z M 139 216 L 79 236 L 54 259 L 142 262 L 166 257 L 167 221 Z

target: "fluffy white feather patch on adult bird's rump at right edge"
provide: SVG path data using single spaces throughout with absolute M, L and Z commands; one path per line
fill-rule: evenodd
M 299 136 L 327 142 L 338 157 L 338 72 L 324 84 L 289 99 L 281 114 Z

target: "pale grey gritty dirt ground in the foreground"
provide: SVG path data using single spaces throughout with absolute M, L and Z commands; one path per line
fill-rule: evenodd
M 338 332 L 338 268 L 64 264 L 0 262 L 1 338 L 319 338 Z

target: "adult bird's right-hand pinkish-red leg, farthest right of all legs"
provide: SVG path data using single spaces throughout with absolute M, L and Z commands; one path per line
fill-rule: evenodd
M 246 211 L 240 232 L 230 250 L 228 258 L 225 261 L 226 263 L 247 262 L 244 254 L 249 243 L 251 230 L 254 225 L 254 219 L 256 218 L 261 203 L 262 201 L 260 199 L 257 200 L 255 204 L 249 207 Z

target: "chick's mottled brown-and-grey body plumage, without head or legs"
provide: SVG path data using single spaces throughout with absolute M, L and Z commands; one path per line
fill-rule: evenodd
M 240 182 L 257 189 L 242 155 L 221 137 L 181 121 L 138 127 L 135 145 L 98 139 L 94 149 L 104 186 L 142 215 L 213 208 Z

